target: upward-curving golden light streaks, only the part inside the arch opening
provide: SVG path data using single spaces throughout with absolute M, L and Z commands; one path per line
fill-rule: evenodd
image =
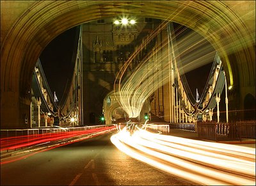
M 163 22 L 152 35 L 148 36 L 145 43 L 149 43 L 150 40 L 156 38 L 157 34 L 166 28 L 167 24 L 168 22 Z M 177 36 L 184 30 L 185 29 L 182 29 L 182 31 L 177 33 Z M 175 38 L 173 40 L 175 40 Z M 127 66 L 131 63 L 132 59 L 141 52 L 143 47 L 145 47 L 145 43 L 132 54 L 131 58 L 125 63 L 116 78 L 119 79 L 118 94 L 120 95 L 117 100 L 120 102 L 125 112 L 127 112 L 129 118 L 138 117 L 145 100 L 147 100 L 154 91 L 169 81 L 170 52 L 168 51 L 168 38 L 166 38 L 161 43 L 157 43 L 154 49 L 141 59 L 140 64 L 134 69 L 132 74 L 129 77 L 125 77 L 121 82 Z M 202 38 L 202 36 L 193 31 L 183 36 L 183 39 L 175 43 L 175 45 L 179 46 L 179 51 L 176 49 L 176 53 L 179 55 L 175 56 L 175 58 L 177 58 L 175 60 L 178 60 L 181 56 L 184 58 L 182 61 L 183 65 L 178 66 L 182 71 L 181 74 L 207 63 L 211 63 L 215 54 L 211 45 L 209 45 L 209 43 L 207 44 L 207 41 Z

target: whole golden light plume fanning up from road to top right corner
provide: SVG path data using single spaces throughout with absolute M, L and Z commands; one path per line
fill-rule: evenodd
M 190 3 L 191 2 L 189 2 L 187 6 L 189 6 Z M 220 43 L 214 43 L 214 47 L 215 49 L 221 47 L 225 49 L 228 54 L 237 52 L 244 47 L 246 48 L 246 46 L 250 47 L 250 45 L 255 45 L 255 42 L 252 42 L 253 36 L 251 36 L 250 33 L 246 33 L 246 29 L 244 29 L 245 32 L 239 36 L 236 36 L 236 31 L 230 29 L 233 24 L 236 25 L 237 22 L 241 21 L 239 17 L 228 22 L 228 24 L 227 22 L 223 22 L 222 14 L 229 13 L 229 11 L 230 10 L 227 9 L 227 12 L 221 12 L 219 16 L 212 17 L 209 19 L 209 22 L 205 22 L 204 27 L 207 27 L 209 32 L 207 32 L 208 34 L 206 36 L 204 35 L 203 39 L 202 36 L 195 31 L 188 32 L 186 35 L 181 36 L 181 34 L 186 31 L 186 28 L 177 28 L 179 32 L 172 38 L 172 42 L 175 45 L 174 53 L 177 55 L 175 55 L 172 60 L 180 61 L 180 59 L 182 59 L 182 63 L 177 64 L 180 75 L 213 61 L 216 51 L 209 42 L 212 42 L 213 38 L 220 37 L 221 33 L 227 32 L 228 34 L 223 38 L 218 38 Z M 179 16 L 179 14 L 180 12 L 173 12 L 172 17 Z M 191 17 L 191 20 L 188 20 L 185 23 L 186 27 L 191 26 L 193 28 L 197 22 L 205 21 L 201 20 L 200 17 L 198 17 L 198 19 L 195 17 L 193 17 L 193 19 Z M 167 49 L 168 40 L 163 40 L 162 43 L 159 43 L 158 41 L 157 45 L 154 45 L 147 56 L 140 60 L 140 64 L 132 74 L 129 77 L 123 76 L 127 67 L 132 63 L 132 60 L 136 58 L 136 56 L 138 56 L 150 42 L 157 38 L 157 35 L 166 28 L 168 21 L 170 20 L 172 20 L 172 18 L 168 17 L 147 38 L 145 38 L 145 40 L 143 40 L 143 43 L 141 43 L 138 49 L 134 51 L 131 57 L 125 62 L 116 77 L 115 84 L 116 82 L 119 84 L 118 90 L 114 88 L 114 91 L 119 95 L 119 97 L 116 97 L 116 100 L 118 100 L 124 111 L 127 112 L 129 118 L 138 117 L 145 100 L 154 93 L 154 91 L 169 82 L 168 70 L 170 69 L 168 68 L 168 65 L 170 61 L 168 59 L 169 52 Z M 214 25 L 216 25 L 216 27 L 214 27 Z M 178 36 L 180 37 L 176 42 Z M 222 56 L 222 58 L 225 58 L 225 56 Z M 227 66 L 226 70 L 230 72 L 230 82 L 232 84 L 232 70 L 228 61 Z

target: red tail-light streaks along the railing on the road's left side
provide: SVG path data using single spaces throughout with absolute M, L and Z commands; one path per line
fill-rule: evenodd
M 115 127 L 95 125 L 70 128 L 60 127 L 1 130 L 1 156 L 6 155 L 8 152 L 24 150 L 33 146 L 58 144 L 58 141 L 63 143 L 63 141 L 79 139 L 79 137 L 84 135 L 94 136 L 111 130 L 115 130 Z

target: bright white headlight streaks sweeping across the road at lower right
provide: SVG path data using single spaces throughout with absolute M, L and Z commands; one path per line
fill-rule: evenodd
M 255 185 L 255 149 L 126 128 L 111 142 L 127 155 L 203 185 Z

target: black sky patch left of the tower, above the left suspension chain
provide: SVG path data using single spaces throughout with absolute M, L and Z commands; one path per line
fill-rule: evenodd
M 45 77 L 51 88 L 61 101 L 68 79 L 72 76 L 72 54 L 76 49 L 76 27 L 69 29 L 52 40 L 40 55 Z M 57 102 L 58 104 L 58 102 Z

